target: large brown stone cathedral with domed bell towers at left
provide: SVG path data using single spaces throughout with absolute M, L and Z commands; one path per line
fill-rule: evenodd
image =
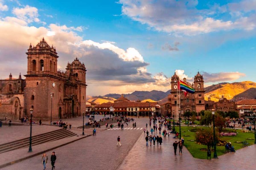
M 56 49 L 44 40 L 30 44 L 26 79 L 0 80 L 0 114 L 12 119 L 29 116 L 51 120 L 81 116 L 86 110 L 86 68 L 79 59 L 59 71 Z

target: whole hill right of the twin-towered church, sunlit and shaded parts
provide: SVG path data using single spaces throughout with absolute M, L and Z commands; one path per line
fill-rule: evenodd
M 247 90 L 250 90 L 249 92 L 245 92 Z M 205 88 L 206 92 L 204 95 L 204 99 L 208 100 L 208 97 L 211 98 L 211 100 L 217 102 L 222 95 L 224 95 L 225 98 L 229 100 L 235 100 L 239 101 L 243 97 L 248 97 L 249 99 L 254 99 L 256 96 L 256 93 L 254 92 L 254 88 L 256 88 L 255 82 L 250 81 L 244 81 L 244 82 L 233 82 L 233 83 L 220 83 L 217 85 L 212 85 L 207 88 Z M 245 94 L 242 94 L 244 93 Z M 251 94 L 250 94 L 251 93 Z M 241 94 L 241 96 L 239 96 Z M 250 94 L 250 95 L 248 95 Z M 233 99 L 234 98 L 234 99 Z

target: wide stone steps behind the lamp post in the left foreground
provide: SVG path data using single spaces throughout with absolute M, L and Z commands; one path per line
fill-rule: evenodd
M 72 131 L 67 129 L 54 130 L 48 133 L 32 136 L 32 146 L 42 144 L 45 142 L 52 142 L 55 140 L 71 136 L 76 136 L 76 133 L 73 133 Z M 25 147 L 29 147 L 29 138 L 24 138 L 13 142 L 8 142 L 5 144 L 0 144 L 0 153 L 5 153 L 11 150 L 16 150 Z

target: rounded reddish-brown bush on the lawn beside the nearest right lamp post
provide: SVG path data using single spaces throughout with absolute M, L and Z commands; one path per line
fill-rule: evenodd
M 218 143 L 218 134 L 215 134 Z M 207 150 L 211 150 L 213 144 L 213 130 L 211 128 L 201 129 L 195 134 L 195 141 L 199 144 L 207 145 Z

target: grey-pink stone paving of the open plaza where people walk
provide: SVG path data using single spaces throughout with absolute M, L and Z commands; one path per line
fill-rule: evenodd
M 81 117 L 75 118 L 81 122 Z M 71 119 L 70 119 L 71 120 Z M 74 120 L 73 120 L 74 121 Z M 73 122 L 79 126 L 80 123 Z M 149 119 L 135 119 L 137 128 L 132 128 L 132 122 L 124 126 L 121 130 L 117 126 L 113 129 L 96 129 L 96 136 L 88 136 L 76 142 L 47 151 L 48 158 L 52 151 L 56 152 L 56 170 L 148 170 L 148 169 L 189 169 L 189 170 L 250 170 L 256 166 L 253 161 L 256 145 L 251 145 L 237 150 L 236 153 L 227 153 L 219 156 L 219 159 L 201 160 L 195 159 L 189 151 L 183 147 L 183 155 L 174 155 L 172 143 L 178 139 L 172 139 L 174 135 L 163 138 L 162 146 L 145 146 L 145 134 L 143 128 L 149 124 Z M 115 124 L 116 125 L 116 124 Z M 48 127 L 44 125 L 43 127 Z M 49 126 L 50 128 L 55 128 Z M 7 127 L 4 127 L 5 130 Z M 12 127 L 16 128 L 17 127 Z M 77 129 L 76 129 L 77 130 Z M 92 129 L 89 129 L 90 131 Z M 148 126 L 148 131 L 150 127 Z M 77 132 L 81 132 L 79 129 Z M 159 135 L 155 132 L 153 135 Z M 117 136 L 121 138 L 122 146 L 116 146 Z M 78 136 L 74 136 L 78 137 Z M 67 142 L 71 139 L 63 139 Z M 185 141 L 186 142 L 186 141 Z M 33 152 L 44 150 L 53 146 L 56 142 L 49 142 L 33 147 Z M 57 144 L 56 144 L 57 145 Z M 218 149 L 218 148 L 217 148 Z M 0 161 L 3 157 L 15 157 L 21 153 L 27 153 L 28 148 L 18 149 L 8 153 L 0 154 Z M 2 162 L 3 163 L 3 162 Z M 41 164 L 41 154 L 32 158 L 3 167 L 3 170 L 38 170 L 43 168 Z M 47 163 L 50 169 L 50 162 Z

